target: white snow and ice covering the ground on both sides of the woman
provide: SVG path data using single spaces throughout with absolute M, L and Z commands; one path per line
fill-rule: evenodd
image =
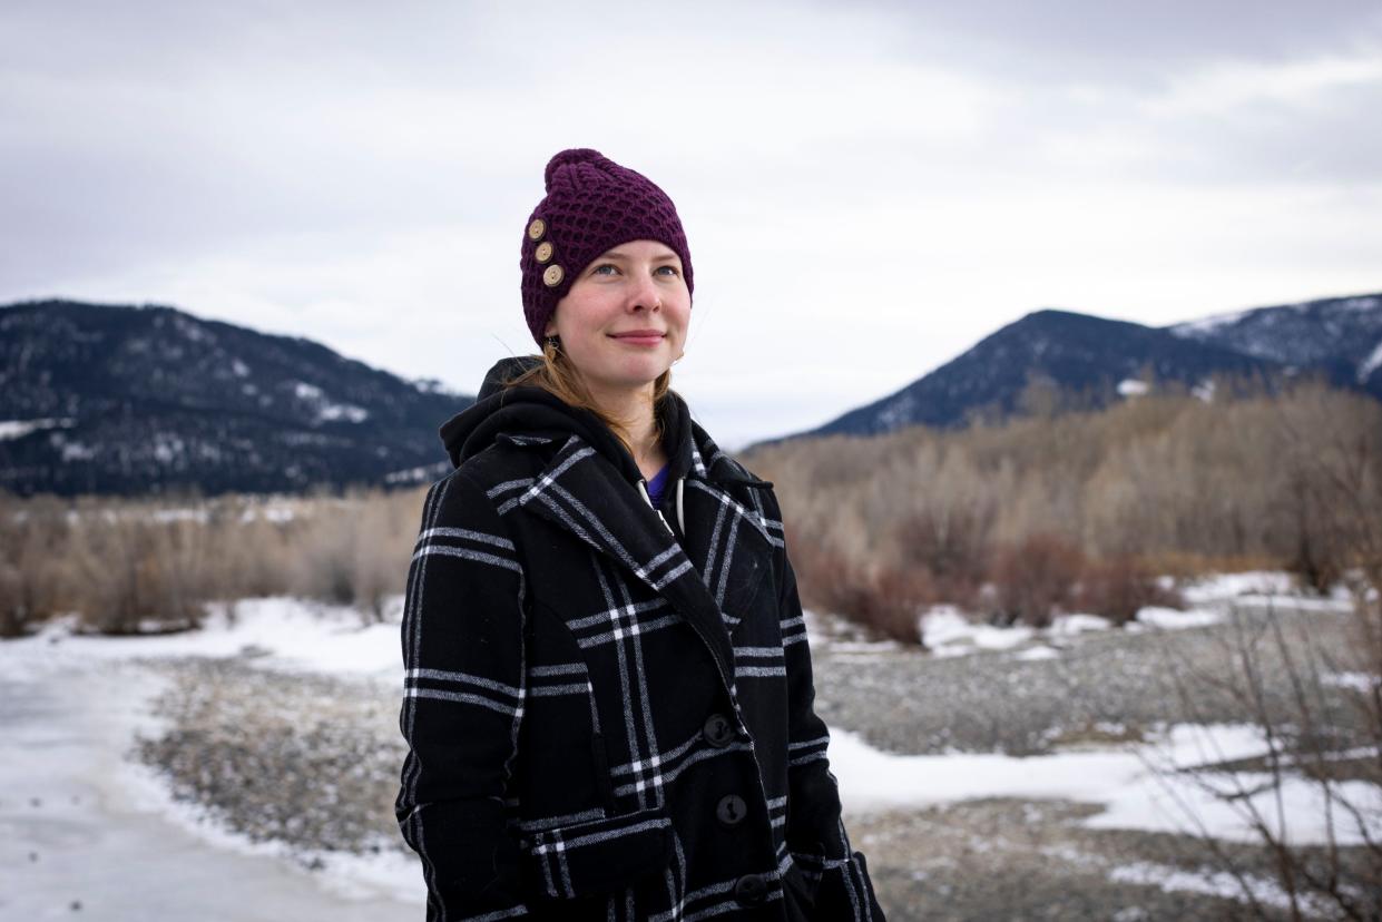
M 1211 581 L 1186 593 L 1191 611 L 1148 610 L 1140 618 L 1142 630 L 1212 625 L 1223 618 L 1224 600 L 1267 604 L 1285 589 L 1278 574 Z M 1324 600 L 1318 607 L 1338 611 L 1343 604 Z M 276 676 L 366 681 L 387 697 L 401 687 L 398 600 L 390 612 L 387 623 L 362 628 L 358 614 L 348 610 L 287 599 L 245 600 L 214 612 L 203 630 L 189 634 L 80 637 L 66 625 L 50 625 L 39 636 L 0 643 L 0 717 L 6 727 L 0 734 L 0 831 L 6 834 L 0 919 L 70 916 L 77 901 L 84 910 L 100 910 L 100 918 L 117 921 L 417 918 L 420 874 L 406 854 L 387 847 L 363 856 L 319 853 L 312 857 L 319 869 L 304 872 L 301 854 L 286 861 L 281 845 L 253 843 L 207 822 L 203 811 L 174 800 L 159 775 L 127 758 L 135 733 L 160 730 L 149 702 L 166 691 L 167 680 L 142 665 L 146 658 L 236 657 Z M 1049 665 L 1038 661 L 1066 657 L 1085 634 L 1113 630 L 1092 615 L 1066 617 L 1045 632 L 1001 630 L 970 625 L 944 610 L 930 612 L 925 628 L 936 659 L 996 652 L 1032 668 Z M 858 661 L 860 666 L 873 657 L 919 655 L 893 644 L 825 633 L 813 634 L 813 650 L 822 661 Z M 1367 690 L 1376 681 L 1376 676 L 1347 673 L 1335 684 Z M 1194 730 L 1172 724 L 1126 742 L 1111 733 L 1101 742 L 1019 758 L 884 752 L 828 719 L 836 724 L 832 769 L 847 810 L 862 828 L 869 828 L 871 814 L 1016 799 L 1089 805 L 1075 821 L 1090 835 L 1100 829 L 1189 831 L 1193 813 L 1216 838 L 1251 840 L 1241 809 L 1226 807 L 1189 774 L 1153 770 L 1258 756 L 1266 744 L 1247 726 Z M 1260 775 L 1224 778 L 1251 788 Z M 1382 811 L 1375 789 L 1350 793 L 1371 798 L 1368 802 Z M 1280 807 L 1274 802 L 1260 806 L 1284 825 L 1292 842 L 1323 840 L 1324 810 L 1312 788 L 1288 785 Z M 1184 871 L 1176 868 L 1148 863 L 1121 868 L 1115 871 L 1122 882 L 1197 886 L 1186 883 Z M 1198 886 L 1213 886 L 1212 878 L 1201 878 Z M 227 903 L 228 890 L 234 892 L 232 903 Z

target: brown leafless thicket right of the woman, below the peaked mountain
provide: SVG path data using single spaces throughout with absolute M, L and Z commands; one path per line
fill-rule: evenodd
M 1006 422 L 778 442 L 744 460 L 777 484 L 807 603 L 909 641 L 938 603 L 995 623 L 1122 622 L 1175 604 L 1165 575 L 1382 585 L 1382 405 L 1316 382 L 1212 393 L 1079 412 L 1032 399 Z

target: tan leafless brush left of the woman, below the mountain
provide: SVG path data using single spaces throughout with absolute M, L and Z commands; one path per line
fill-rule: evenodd
M 200 623 L 205 603 L 294 594 L 384 617 L 423 489 L 304 498 L 17 499 L 0 493 L 0 636 L 58 614 L 111 634 Z

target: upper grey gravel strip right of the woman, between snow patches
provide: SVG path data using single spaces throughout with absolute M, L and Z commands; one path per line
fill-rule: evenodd
M 1276 716 L 1295 708 L 1273 632 L 1302 652 L 1298 673 L 1309 675 L 1307 655 L 1314 672 L 1327 673 L 1346 668 L 1336 661 L 1352 625 L 1353 615 L 1342 611 L 1236 605 L 1223 622 L 1200 628 L 1075 634 L 1060 640 L 1059 655 L 1039 659 L 1023 658 L 1021 648 L 952 658 L 826 648 L 814 655 L 817 709 L 832 727 L 907 755 L 1030 756 L 1071 744 L 1136 741 L 1172 723 L 1253 723 L 1259 704 Z M 1227 681 L 1244 655 L 1260 676 L 1262 702 Z M 1342 691 L 1321 691 L 1345 715 Z

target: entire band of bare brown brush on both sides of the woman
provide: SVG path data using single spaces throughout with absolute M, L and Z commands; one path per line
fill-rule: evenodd
M 1382 586 L 1382 405 L 1300 382 L 1161 388 L 1101 409 L 1028 399 L 965 430 L 759 448 L 811 607 L 919 643 L 948 603 L 995 623 L 1115 622 L 1158 576 L 1289 568 Z M 1067 409 L 1061 409 L 1061 408 Z M 213 599 L 297 594 L 381 618 L 424 489 L 76 500 L 0 493 L 0 636 L 77 612 L 105 633 L 195 626 Z M 274 514 L 272 510 L 286 514 Z

